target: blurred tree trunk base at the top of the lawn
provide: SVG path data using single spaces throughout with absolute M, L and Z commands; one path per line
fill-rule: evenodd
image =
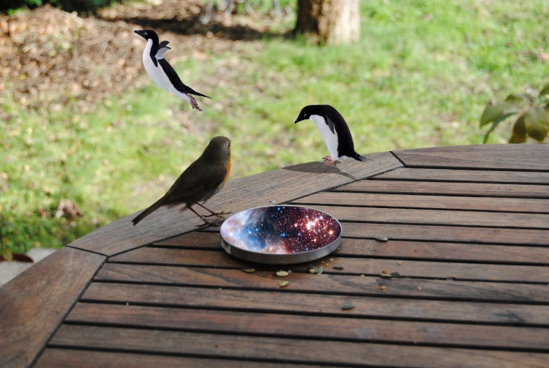
M 359 0 L 298 0 L 296 34 L 318 37 L 327 44 L 360 38 Z

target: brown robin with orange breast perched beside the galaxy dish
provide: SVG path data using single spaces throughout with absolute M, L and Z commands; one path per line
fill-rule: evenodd
M 198 202 L 206 202 L 219 192 L 229 179 L 229 172 L 231 172 L 231 140 L 227 137 L 215 137 L 202 152 L 202 156 L 191 163 L 170 187 L 170 190 L 132 220 L 133 225 L 137 225 L 139 221 L 162 206 L 175 207 L 177 205 L 185 205 L 207 225 L 213 225 L 212 222 L 206 220 L 207 217 L 220 217 L 220 215 L 229 213 L 211 211 Z M 207 209 L 211 215 L 200 216 L 191 207 L 195 204 Z

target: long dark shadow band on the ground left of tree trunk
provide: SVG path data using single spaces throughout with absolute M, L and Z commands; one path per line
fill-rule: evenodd
M 210 21 L 208 24 L 202 24 L 200 22 L 201 14 L 193 16 L 189 19 L 178 20 L 172 19 L 150 19 L 144 16 L 117 16 L 114 18 L 104 18 L 97 16 L 97 18 L 109 22 L 124 21 L 126 23 L 135 24 L 143 27 L 144 29 L 162 30 L 164 32 L 174 32 L 182 35 L 202 34 L 205 35 L 208 32 L 213 34 L 219 34 L 222 32 L 224 38 L 229 38 L 233 41 L 255 41 L 264 38 L 292 38 L 292 32 L 286 32 L 284 34 L 274 32 L 261 32 L 255 30 L 252 27 L 246 25 L 232 25 L 226 26 L 216 21 Z

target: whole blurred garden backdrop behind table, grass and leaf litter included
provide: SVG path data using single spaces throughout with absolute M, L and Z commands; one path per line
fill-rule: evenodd
M 147 207 L 215 135 L 233 141 L 231 180 L 318 161 L 314 124 L 293 124 L 307 104 L 336 107 L 363 154 L 477 144 L 487 103 L 547 82 L 549 1 L 345 1 L 335 26 L 315 23 L 323 0 L 3 1 L 0 255 Z M 145 73 L 143 27 L 213 97 L 203 113 Z

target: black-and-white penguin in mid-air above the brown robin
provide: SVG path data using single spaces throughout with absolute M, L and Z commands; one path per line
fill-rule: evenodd
M 145 50 L 143 50 L 143 66 L 148 75 L 156 84 L 177 95 L 183 100 L 189 102 L 192 108 L 196 108 L 198 111 L 202 109 L 196 103 L 195 98 L 192 95 L 208 97 L 207 95 L 202 95 L 198 93 L 191 87 L 186 86 L 181 82 L 179 76 L 177 75 L 172 65 L 164 58 L 167 51 L 170 51 L 170 47 L 167 47 L 168 41 L 162 41 L 159 43 L 159 35 L 156 34 L 153 30 L 141 30 L 134 31 L 139 34 L 139 36 L 147 40 L 147 45 Z

